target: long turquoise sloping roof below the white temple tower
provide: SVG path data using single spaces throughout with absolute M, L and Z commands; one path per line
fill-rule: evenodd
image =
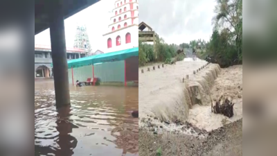
M 78 58 L 75 60 L 69 60 L 67 61 L 67 64 L 69 68 L 82 67 L 89 64 L 125 60 L 126 58 L 129 58 L 132 56 L 139 56 L 139 47 L 126 49 L 123 51 L 115 51 L 111 53 L 102 53 L 99 55 L 91 55 L 89 57 Z M 51 66 L 53 66 L 53 64 L 51 64 Z

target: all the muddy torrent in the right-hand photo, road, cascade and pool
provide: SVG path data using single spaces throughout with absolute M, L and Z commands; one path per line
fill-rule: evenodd
M 190 129 L 184 130 L 184 125 L 176 125 L 174 121 L 176 119 L 188 121 L 197 128 L 211 131 L 220 128 L 223 121 L 231 123 L 242 119 L 242 66 L 221 69 L 210 88 L 204 76 L 213 79 L 213 71 L 216 71 L 218 66 L 209 64 L 205 69 L 193 74 L 194 70 L 199 69 L 204 64 L 206 64 L 204 60 L 193 61 L 191 58 L 185 58 L 184 61 L 176 62 L 174 65 L 166 65 L 160 69 L 157 68 L 157 64 L 155 64 L 156 69 L 153 70 L 150 67 L 150 71 L 146 70 L 148 67 L 141 67 L 139 71 L 144 69 L 144 73 L 139 73 L 139 126 L 152 128 L 149 125 L 154 125 L 157 126 L 158 132 L 160 128 L 169 132 L 197 135 Z M 183 83 L 182 78 L 186 78 L 186 75 L 189 76 L 189 80 L 185 80 Z M 188 86 L 199 86 L 199 92 L 202 92 L 200 98 L 203 103 L 201 105 L 195 103 L 189 109 L 186 83 Z M 210 94 L 204 92 L 204 87 L 209 90 Z M 211 98 L 208 98 L 208 101 L 204 98 L 209 95 L 216 100 L 220 99 L 221 96 L 231 99 L 235 103 L 234 116 L 228 119 L 222 114 L 212 113 Z M 168 125 L 161 122 L 160 119 L 173 122 Z

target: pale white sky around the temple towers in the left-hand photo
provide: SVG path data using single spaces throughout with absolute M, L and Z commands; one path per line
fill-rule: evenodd
M 91 50 L 93 52 L 98 49 L 105 51 L 107 42 L 102 35 L 108 31 L 109 11 L 114 8 L 114 1 L 101 0 L 64 20 L 66 47 L 73 47 L 77 26 L 85 24 L 91 42 Z M 49 29 L 35 35 L 35 44 L 51 45 Z

